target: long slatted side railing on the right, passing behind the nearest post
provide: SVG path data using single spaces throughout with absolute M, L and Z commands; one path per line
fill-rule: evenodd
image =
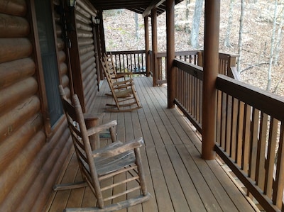
M 202 132 L 202 67 L 174 66 L 175 104 Z M 266 211 L 284 211 L 284 98 L 219 74 L 216 108 L 217 154 Z

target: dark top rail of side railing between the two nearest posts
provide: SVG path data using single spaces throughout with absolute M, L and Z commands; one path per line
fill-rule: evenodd
M 182 69 L 182 71 L 187 72 L 195 77 L 197 77 L 197 79 L 201 79 L 202 80 L 202 76 L 203 76 L 203 68 L 198 66 L 198 65 L 194 65 L 192 63 L 189 62 L 185 62 L 183 60 L 179 60 L 179 59 L 175 59 L 173 62 L 173 65 L 175 67 L 178 67 L 180 69 Z

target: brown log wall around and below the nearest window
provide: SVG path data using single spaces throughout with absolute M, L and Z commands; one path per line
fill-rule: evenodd
M 63 119 L 46 142 L 29 11 L 24 0 L 0 1 L 0 211 L 8 212 L 43 210 L 71 147 Z M 58 58 L 67 87 L 62 43 Z

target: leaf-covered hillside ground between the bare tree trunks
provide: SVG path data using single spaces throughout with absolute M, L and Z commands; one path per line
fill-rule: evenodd
M 175 6 L 175 50 L 193 50 L 190 46 L 190 34 L 185 32 L 185 24 L 192 25 L 195 1 L 190 1 L 189 20 L 185 17 L 185 1 Z M 232 11 L 233 24 L 231 26 L 231 47 L 224 45 L 226 28 L 229 18 L 229 0 L 221 1 L 219 52 L 238 55 L 239 18 L 241 1 L 234 1 Z M 246 1 L 244 13 L 243 46 L 241 55 L 241 81 L 252 84 L 260 89 L 266 89 L 268 82 L 269 58 L 271 55 L 271 38 L 273 31 L 274 1 L 258 0 L 256 3 Z M 283 5 L 278 5 L 278 14 Z M 280 15 L 279 15 L 280 16 Z M 280 20 L 278 20 L 280 23 Z M 151 27 L 151 18 L 149 18 Z M 165 13 L 158 16 L 158 52 L 166 50 Z M 138 33 L 134 13 L 127 10 L 104 11 L 104 28 L 108 51 L 116 50 L 144 50 L 144 23 L 138 15 Z M 276 34 L 278 31 L 276 26 Z M 151 33 L 151 30 L 150 30 Z M 151 34 L 150 34 L 151 36 Z M 284 35 L 283 35 L 284 36 Z M 200 23 L 200 47 L 203 49 L 204 11 Z M 151 41 L 151 39 L 150 39 Z M 271 92 L 284 96 L 284 45 L 280 43 L 278 62 L 271 70 Z

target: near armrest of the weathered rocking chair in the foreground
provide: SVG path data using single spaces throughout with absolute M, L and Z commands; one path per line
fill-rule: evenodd
M 93 157 L 113 157 L 129 150 L 134 150 L 136 148 L 142 147 L 143 145 L 144 140 L 142 137 L 140 137 L 136 138 L 135 140 L 131 140 L 127 143 L 124 143 L 123 145 L 111 150 L 94 152 Z

